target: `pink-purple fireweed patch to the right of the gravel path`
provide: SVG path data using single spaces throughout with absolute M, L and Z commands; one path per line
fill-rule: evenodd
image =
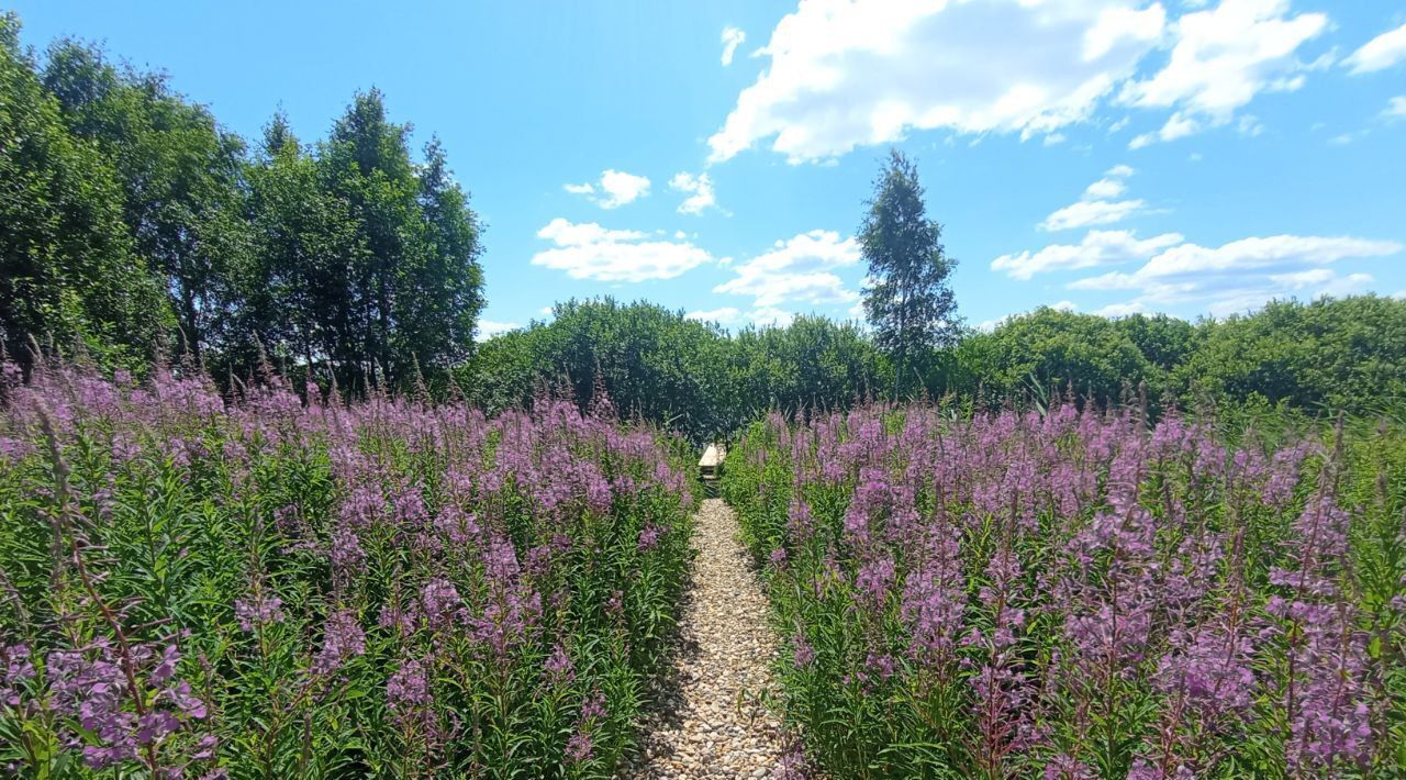
M 1286 427 L 1071 405 L 754 424 L 723 489 L 806 760 L 1406 776 L 1406 434 Z

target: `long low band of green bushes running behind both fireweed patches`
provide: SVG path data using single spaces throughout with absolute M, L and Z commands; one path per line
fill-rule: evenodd
M 1260 408 L 1305 416 L 1406 409 L 1406 301 L 1275 301 L 1223 320 L 1108 319 L 1050 308 L 900 358 L 856 323 L 818 316 L 728 333 L 681 311 L 568 301 L 550 322 L 489 339 L 453 374 L 489 412 L 568 394 L 707 438 L 779 409 L 950 396 L 998 409 L 1098 405 Z M 904 371 L 908 379 L 898 382 Z

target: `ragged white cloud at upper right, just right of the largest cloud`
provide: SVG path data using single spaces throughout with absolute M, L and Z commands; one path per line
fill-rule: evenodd
M 1316 13 L 1288 14 L 1288 0 L 1222 0 L 1212 10 L 1178 18 L 1167 65 L 1149 79 L 1128 82 L 1119 93 L 1128 105 L 1177 111 L 1132 146 L 1174 141 L 1206 122 L 1222 125 L 1261 91 L 1301 87 L 1299 72 L 1313 65 L 1301 63 L 1295 52 L 1327 30 L 1329 20 Z

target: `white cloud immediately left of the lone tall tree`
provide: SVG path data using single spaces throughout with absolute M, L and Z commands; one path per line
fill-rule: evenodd
M 839 233 L 811 230 L 776 242 L 770 252 L 734 266 L 737 275 L 713 292 L 751 295 L 758 309 L 786 302 L 852 304 L 859 294 L 831 271 L 858 261 L 859 245 L 853 238 L 841 240 Z

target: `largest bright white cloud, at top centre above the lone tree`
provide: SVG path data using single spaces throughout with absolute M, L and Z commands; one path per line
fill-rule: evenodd
M 801 0 L 710 139 L 821 160 L 910 129 L 1049 135 L 1087 119 L 1163 32 L 1143 0 Z M 973 66 L 980 63 L 980 66 Z

